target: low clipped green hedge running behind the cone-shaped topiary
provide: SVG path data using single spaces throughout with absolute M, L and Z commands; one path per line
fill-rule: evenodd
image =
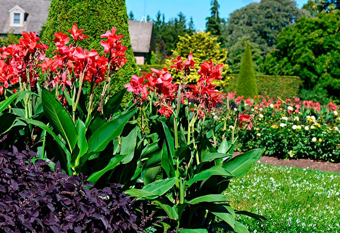
M 238 74 L 231 75 L 232 80 L 224 89 L 226 92 L 236 91 Z M 281 98 L 283 100 L 299 96 L 302 80 L 297 76 L 279 76 L 279 75 L 256 75 L 258 94 L 269 95 L 272 98 Z

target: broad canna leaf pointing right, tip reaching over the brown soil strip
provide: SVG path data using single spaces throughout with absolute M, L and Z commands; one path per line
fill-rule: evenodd
M 264 148 L 250 150 L 226 161 L 223 167 L 230 171 L 235 177 L 245 175 L 253 164 L 261 158 Z

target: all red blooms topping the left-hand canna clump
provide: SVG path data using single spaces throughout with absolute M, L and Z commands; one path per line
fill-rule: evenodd
M 55 54 L 52 58 L 45 56 L 48 47 L 40 43 L 39 37 L 32 32 L 23 32 L 19 44 L 0 48 L 0 95 L 4 88 L 15 88 L 20 80 L 25 84 L 29 81 L 30 86 L 34 87 L 39 78 L 37 67 L 41 67 L 46 76 L 46 88 L 51 90 L 62 87 L 61 90 L 64 91 L 66 88 L 70 89 L 75 82 L 88 82 L 91 87 L 98 86 L 105 81 L 109 72 L 117 71 L 127 62 L 127 48 L 121 45 L 120 40 L 124 36 L 117 35 L 114 27 L 101 35 L 106 38 L 101 41 L 104 48 L 101 56 L 97 50 L 87 50 L 77 45 L 78 41 L 88 39 L 88 36 L 83 34 L 84 29 L 78 29 L 76 23 L 67 31 L 72 43 L 68 34 L 54 33 L 56 50 L 52 53 Z

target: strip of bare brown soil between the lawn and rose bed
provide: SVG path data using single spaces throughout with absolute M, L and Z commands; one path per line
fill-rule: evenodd
M 238 155 L 240 152 L 235 152 L 234 155 Z M 314 161 L 311 159 L 291 159 L 283 160 L 274 157 L 262 156 L 260 159 L 261 164 L 270 164 L 275 166 L 294 166 L 300 168 L 306 168 L 310 170 L 320 170 L 328 172 L 339 172 L 340 173 L 340 163 L 330 163 L 322 161 Z

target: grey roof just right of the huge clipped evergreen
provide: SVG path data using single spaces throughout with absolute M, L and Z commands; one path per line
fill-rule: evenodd
M 153 22 L 128 20 L 132 50 L 134 52 L 149 52 L 153 36 Z

